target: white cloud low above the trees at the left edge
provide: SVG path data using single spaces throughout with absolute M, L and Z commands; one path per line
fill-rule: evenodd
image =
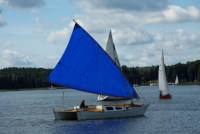
M 1 51 L 0 67 L 31 67 L 33 63 L 28 56 L 20 55 L 18 52 L 11 50 Z

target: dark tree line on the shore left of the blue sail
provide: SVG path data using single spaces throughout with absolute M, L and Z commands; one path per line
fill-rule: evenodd
M 23 89 L 49 87 L 47 80 L 51 69 L 4 68 L 0 70 L 0 89 Z

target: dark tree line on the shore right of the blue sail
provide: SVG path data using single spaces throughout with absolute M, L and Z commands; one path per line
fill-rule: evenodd
M 159 66 L 151 67 L 127 67 L 122 66 L 122 72 L 129 82 L 138 85 L 148 85 L 150 81 L 157 81 Z M 174 83 L 176 75 L 180 83 L 200 82 L 200 60 L 187 62 L 186 64 L 177 63 L 165 66 L 167 81 Z

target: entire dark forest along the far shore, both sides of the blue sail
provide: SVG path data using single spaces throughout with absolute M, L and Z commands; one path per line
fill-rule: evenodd
M 150 81 L 157 81 L 158 66 L 127 67 L 123 65 L 122 72 L 133 85 L 149 85 Z M 48 75 L 52 69 L 9 67 L 0 70 L 0 90 L 17 90 L 32 88 L 47 88 L 51 86 Z M 166 66 L 168 82 L 174 82 L 176 75 L 180 83 L 200 84 L 200 60 Z M 57 85 L 53 85 L 57 86 Z

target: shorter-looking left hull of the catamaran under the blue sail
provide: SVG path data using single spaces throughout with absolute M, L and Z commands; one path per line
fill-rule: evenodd
M 77 120 L 76 110 L 53 110 L 55 120 Z

